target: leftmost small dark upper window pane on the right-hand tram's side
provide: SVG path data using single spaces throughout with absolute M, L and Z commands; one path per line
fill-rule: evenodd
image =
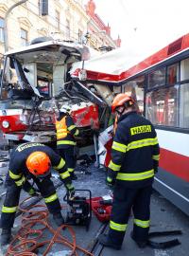
M 148 74 L 148 88 L 154 88 L 165 84 L 165 67 Z

